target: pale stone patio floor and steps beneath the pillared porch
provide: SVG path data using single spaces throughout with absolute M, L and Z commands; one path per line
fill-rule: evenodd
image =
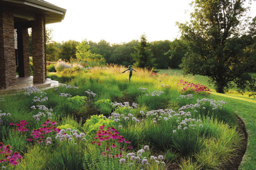
M 0 94 L 10 94 L 24 91 L 22 87 L 38 87 L 40 90 L 46 90 L 48 88 L 65 86 L 66 84 L 59 83 L 51 79 L 46 79 L 44 83 L 33 83 L 33 76 L 19 77 L 16 75 L 16 87 L 11 89 L 0 90 Z

